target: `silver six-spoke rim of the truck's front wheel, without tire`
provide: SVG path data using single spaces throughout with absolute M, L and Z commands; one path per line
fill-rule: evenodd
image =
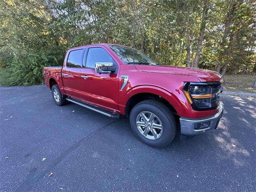
M 162 136 L 162 122 L 152 112 L 140 112 L 136 118 L 136 125 L 140 133 L 148 139 L 155 140 Z

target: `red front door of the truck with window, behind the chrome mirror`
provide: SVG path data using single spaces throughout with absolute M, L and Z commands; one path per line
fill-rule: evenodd
M 85 53 L 86 66 L 81 69 L 82 95 L 87 102 L 102 107 L 118 110 L 118 75 L 98 74 L 95 71 L 96 62 L 117 62 L 110 56 L 104 47 L 90 47 Z

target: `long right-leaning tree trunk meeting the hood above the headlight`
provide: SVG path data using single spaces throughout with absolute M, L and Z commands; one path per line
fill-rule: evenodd
M 208 3 L 209 3 L 209 0 L 206 0 L 204 2 L 204 11 L 203 11 L 203 17 L 202 17 L 200 36 L 198 38 L 196 56 L 195 56 L 195 60 L 194 60 L 194 68 L 198 68 L 200 54 L 201 54 L 201 51 L 202 51 L 202 43 L 203 43 L 203 40 L 204 40 L 205 25 L 206 25 L 207 14 L 208 14 L 208 9 L 209 9 Z

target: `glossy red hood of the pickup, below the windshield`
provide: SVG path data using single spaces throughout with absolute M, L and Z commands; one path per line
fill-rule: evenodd
M 200 80 L 201 82 L 220 81 L 221 79 L 221 75 L 218 72 L 205 69 L 177 67 L 169 65 L 135 65 L 135 67 L 141 72 L 192 76 L 198 78 L 198 80 Z

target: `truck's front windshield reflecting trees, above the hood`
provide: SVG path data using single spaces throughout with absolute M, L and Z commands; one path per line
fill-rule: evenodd
M 125 63 L 125 64 L 147 64 L 157 65 L 152 59 L 138 50 L 130 47 L 123 47 L 119 45 L 110 45 L 112 51 Z M 134 54 L 134 56 L 133 56 Z M 134 58 L 134 61 L 133 61 Z

